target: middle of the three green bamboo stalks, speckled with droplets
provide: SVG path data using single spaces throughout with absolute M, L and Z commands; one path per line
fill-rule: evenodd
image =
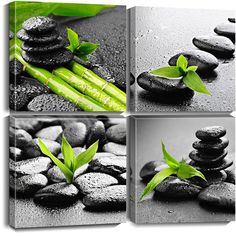
M 125 111 L 126 106 L 70 70 L 60 67 L 52 72 L 81 93 L 92 97 L 110 111 Z

